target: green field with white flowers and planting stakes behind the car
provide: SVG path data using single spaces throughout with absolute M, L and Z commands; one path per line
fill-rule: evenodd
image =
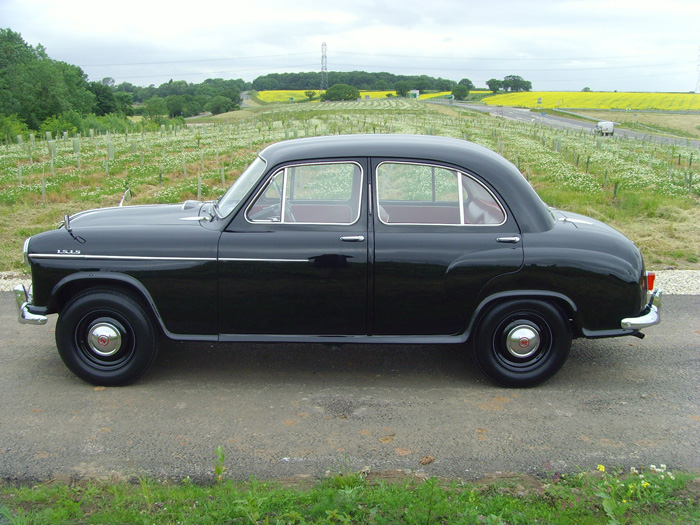
M 513 162 L 550 205 L 604 220 L 648 266 L 700 268 L 697 148 L 595 137 L 407 99 L 271 105 L 158 132 L 25 138 L 0 146 L 0 270 L 23 270 L 24 239 L 65 213 L 212 199 L 265 145 L 296 137 L 413 133 L 463 138 Z M 43 137 L 42 137 L 43 139 Z

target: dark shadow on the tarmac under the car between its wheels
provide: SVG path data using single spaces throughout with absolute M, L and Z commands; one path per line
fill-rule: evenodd
M 364 382 L 442 380 L 483 382 L 464 345 L 341 345 L 163 342 L 141 381 Z

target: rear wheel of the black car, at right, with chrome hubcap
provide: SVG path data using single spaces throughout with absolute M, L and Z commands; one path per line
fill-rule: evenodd
M 562 367 L 571 350 L 567 317 L 553 304 L 516 300 L 491 308 L 474 337 L 476 362 L 503 386 L 543 383 Z

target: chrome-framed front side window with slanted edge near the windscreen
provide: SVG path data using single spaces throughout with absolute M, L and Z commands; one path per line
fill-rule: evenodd
M 352 224 L 360 216 L 362 169 L 353 162 L 287 166 L 248 208 L 250 222 Z

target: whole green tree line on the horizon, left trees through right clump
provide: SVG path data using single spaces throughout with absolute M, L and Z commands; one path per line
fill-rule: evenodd
M 329 71 L 327 75 L 330 86 L 395 91 L 397 96 L 406 96 L 415 89 L 452 91 L 455 98 L 463 99 L 474 89 L 467 78 L 456 82 L 428 75 L 366 71 Z M 530 82 L 514 75 L 503 80 L 491 79 L 487 84 L 494 92 L 529 91 L 532 87 Z M 240 109 L 242 91 L 320 89 L 320 85 L 320 72 L 270 73 L 253 82 L 210 78 L 189 83 L 171 79 L 158 87 L 135 86 L 130 82 L 117 84 L 110 77 L 89 81 L 80 67 L 53 60 L 41 44 L 31 46 L 20 33 L 0 28 L 0 137 L 3 138 L 26 135 L 30 130 L 124 131 L 133 126 L 127 119 L 133 114 L 146 117 L 147 125 L 159 126 L 167 118 Z M 329 91 L 332 95 L 333 91 Z M 349 96 L 347 89 L 343 93 L 344 97 Z

